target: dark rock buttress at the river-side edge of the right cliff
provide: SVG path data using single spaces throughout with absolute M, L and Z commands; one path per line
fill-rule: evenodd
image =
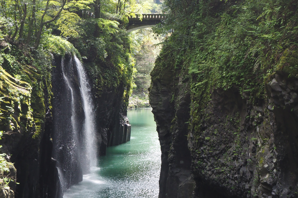
M 168 60 L 166 56 L 162 58 Z M 151 73 L 149 95 L 162 150 L 159 197 L 189 197 L 193 190 L 188 189 L 193 189 L 194 181 L 187 147 L 187 121 L 190 118 L 188 79 L 175 76 L 170 61 L 165 63 L 166 67 L 158 67 L 161 62 L 161 58 L 157 58 Z

